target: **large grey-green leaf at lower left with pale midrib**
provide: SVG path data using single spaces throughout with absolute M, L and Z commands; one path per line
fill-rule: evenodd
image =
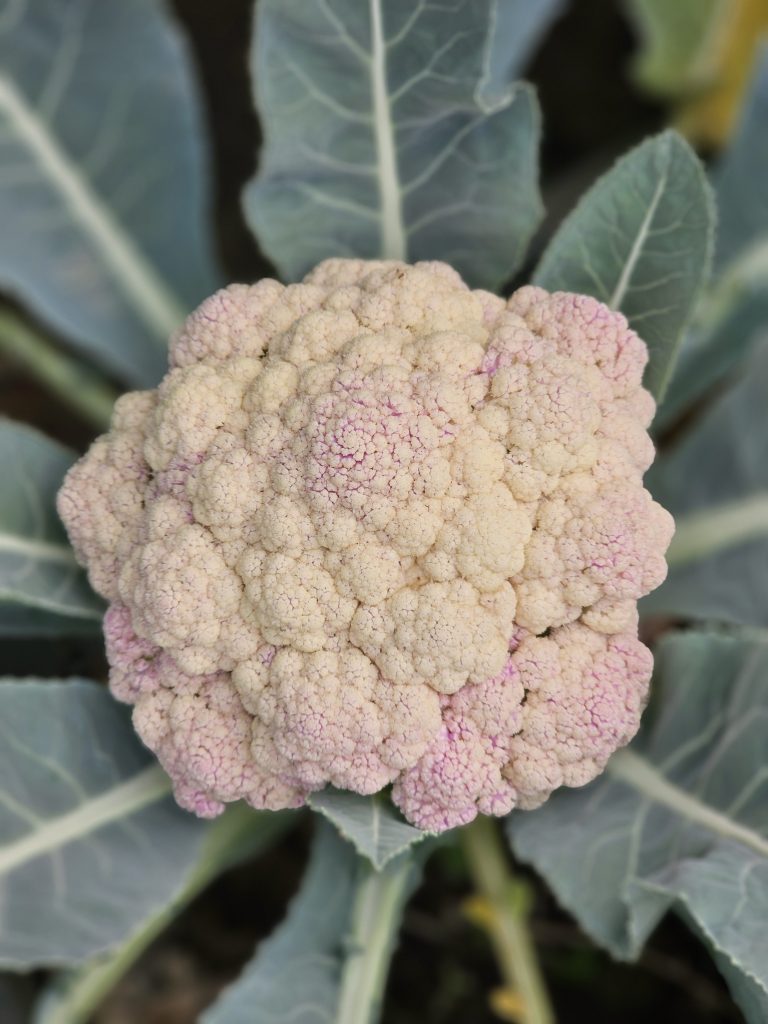
M 85 680 L 0 680 L 0 966 L 72 966 L 181 889 L 206 825 Z

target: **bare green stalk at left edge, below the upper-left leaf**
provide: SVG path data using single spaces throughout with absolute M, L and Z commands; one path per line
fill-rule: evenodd
M 118 392 L 13 313 L 0 312 L 0 352 L 24 367 L 98 430 L 108 430 Z

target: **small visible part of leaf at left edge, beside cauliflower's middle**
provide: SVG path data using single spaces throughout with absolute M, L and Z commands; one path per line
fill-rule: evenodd
M 74 453 L 36 430 L 0 420 L 0 635 L 69 625 L 96 628 L 103 603 L 75 560 L 55 510 Z M 7 616 L 7 617 L 6 617 Z

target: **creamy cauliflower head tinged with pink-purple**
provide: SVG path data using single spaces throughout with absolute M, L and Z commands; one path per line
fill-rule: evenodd
M 592 298 L 436 262 L 204 302 L 58 497 L 178 802 L 391 784 L 439 831 L 597 775 L 638 728 L 673 531 L 646 358 Z

